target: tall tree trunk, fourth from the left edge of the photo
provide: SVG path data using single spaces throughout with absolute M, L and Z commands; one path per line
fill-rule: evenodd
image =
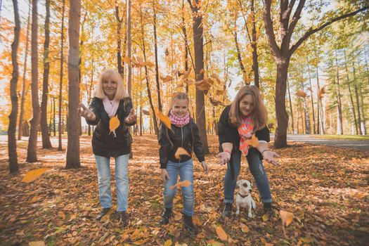
M 48 98 L 48 72 L 50 63 L 48 61 L 48 43 L 50 41 L 50 0 L 46 0 L 46 18 L 45 18 L 45 43 L 44 43 L 44 80 L 42 84 L 42 102 L 41 102 L 41 134 L 42 148 L 52 148 L 50 137 L 48 136 L 47 125 L 47 98 Z

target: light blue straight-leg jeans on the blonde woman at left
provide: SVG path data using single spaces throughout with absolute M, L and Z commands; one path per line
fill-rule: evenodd
M 115 181 L 117 182 L 117 211 L 127 211 L 128 207 L 128 158 L 127 155 L 115 157 Z M 101 207 L 112 207 L 110 193 L 110 157 L 95 155 L 98 167 L 98 196 Z

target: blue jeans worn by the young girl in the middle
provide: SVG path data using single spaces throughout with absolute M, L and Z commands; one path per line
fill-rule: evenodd
M 181 187 L 182 190 L 182 213 L 188 216 L 193 216 L 193 205 L 195 203 L 195 194 L 193 193 L 193 160 L 190 159 L 186 162 L 171 162 L 167 164 L 167 172 L 169 174 L 169 180 L 164 185 L 164 207 L 170 209 L 173 207 L 173 199 L 176 195 L 176 188 L 173 190 L 170 186 L 174 186 L 177 183 L 178 174 L 181 181 L 188 180 L 192 184 L 187 187 Z

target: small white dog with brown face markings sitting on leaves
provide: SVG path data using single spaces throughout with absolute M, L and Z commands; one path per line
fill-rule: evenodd
M 240 214 L 240 207 L 245 207 L 248 209 L 247 215 L 252 218 L 251 209 L 255 209 L 257 207 L 251 197 L 252 184 L 246 179 L 240 179 L 237 181 L 237 186 L 239 189 L 235 196 L 235 206 L 237 209 L 235 214 Z

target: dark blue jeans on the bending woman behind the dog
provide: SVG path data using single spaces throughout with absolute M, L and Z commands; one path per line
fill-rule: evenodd
M 263 167 L 263 162 L 259 157 L 259 150 L 250 148 L 246 157 L 251 174 L 254 176 L 255 182 L 257 183 L 257 189 L 259 190 L 261 200 L 263 202 L 271 202 L 271 188 L 269 187 L 269 181 Z M 233 164 L 235 179 L 232 179 L 231 164 Z M 231 160 L 227 164 L 226 177 L 224 178 L 224 202 L 233 202 L 233 194 L 235 193 L 235 184 L 238 174 L 240 174 L 240 166 L 241 151 L 232 150 Z

